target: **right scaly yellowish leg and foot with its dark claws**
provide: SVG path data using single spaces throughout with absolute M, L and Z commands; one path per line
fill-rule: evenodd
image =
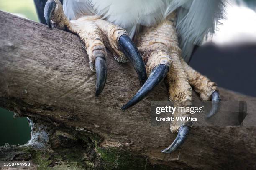
M 136 45 L 146 63 L 149 74 L 148 80 L 137 92 L 137 94 L 122 107 L 123 110 L 135 105 L 142 100 L 153 88 L 166 77 L 169 87 L 169 99 L 176 107 L 192 106 L 192 87 L 200 94 L 202 100 L 212 98 L 217 107 L 219 101 L 218 88 L 200 73 L 193 70 L 183 61 L 181 50 L 178 46 L 178 37 L 175 29 L 175 14 L 168 20 L 155 27 L 145 28 L 136 40 Z M 208 116 L 212 116 L 216 109 L 212 109 Z M 189 112 L 175 112 L 174 117 L 188 117 Z M 170 125 L 172 132 L 178 132 L 174 142 L 163 153 L 171 153 L 181 145 L 189 133 L 192 125 L 190 121 L 175 121 Z

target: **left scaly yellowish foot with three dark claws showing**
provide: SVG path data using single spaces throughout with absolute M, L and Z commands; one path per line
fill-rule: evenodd
M 123 28 L 101 20 L 98 16 L 84 16 L 69 21 L 59 0 L 48 0 L 44 12 L 50 28 L 51 25 L 60 29 L 67 28 L 80 37 L 90 60 L 90 68 L 96 71 L 96 96 L 100 95 L 106 82 L 106 47 L 118 62 L 127 62 L 128 59 L 131 61 L 141 85 L 146 81 L 142 57 Z

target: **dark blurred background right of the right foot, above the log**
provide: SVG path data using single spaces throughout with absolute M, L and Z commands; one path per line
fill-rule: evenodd
M 224 87 L 256 96 L 256 44 L 200 47 L 190 65 Z

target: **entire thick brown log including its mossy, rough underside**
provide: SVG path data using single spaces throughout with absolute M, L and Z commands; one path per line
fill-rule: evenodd
M 0 160 L 31 160 L 41 169 L 256 168 L 255 127 L 193 127 L 179 150 L 163 154 L 177 135 L 151 125 L 151 101 L 168 100 L 164 83 L 123 112 L 140 88 L 129 63 L 109 54 L 105 89 L 95 97 L 96 76 L 76 35 L 4 12 L 0 20 L 0 107 L 34 122 L 31 141 L 1 147 Z

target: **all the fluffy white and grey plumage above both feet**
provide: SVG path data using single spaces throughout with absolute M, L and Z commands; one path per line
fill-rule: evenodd
M 70 20 L 82 15 L 100 15 L 125 28 L 131 37 L 138 25 L 151 26 L 177 10 L 179 45 L 186 61 L 194 45 L 214 33 L 223 18 L 224 0 L 64 0 L 64 12 Z

